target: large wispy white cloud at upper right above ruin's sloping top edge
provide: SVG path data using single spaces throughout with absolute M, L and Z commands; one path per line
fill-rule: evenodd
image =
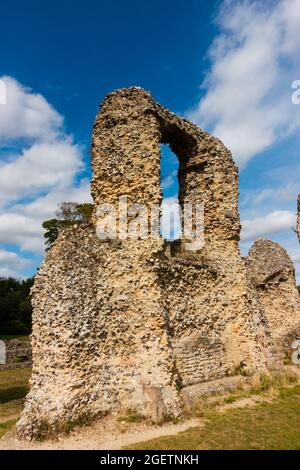
M 227 0 L 219 10 L 204 96 L 188 117 L 221 138 L 241 166 L 300 125 L 291 102 L 299 24 L 300 0 Z

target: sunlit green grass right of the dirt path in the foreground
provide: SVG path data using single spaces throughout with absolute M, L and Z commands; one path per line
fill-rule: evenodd
M 128 449 L 300 450 L 300 385 L 283 388 L 273 402 L 213 412 L 204 427 L 190 428 Z

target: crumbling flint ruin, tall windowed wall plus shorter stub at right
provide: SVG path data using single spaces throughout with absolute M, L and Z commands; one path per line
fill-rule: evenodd
M 179 160 L 179 203 L 203 204 L 204 246 L 159 235 L 100 240 L 103 204 L 118 214 L 124 195 L 161 203 L 161 143 Z M 285 250 L 262 240 L 248 259 L 240 254 L 238 172 L 220 140 L 143 89 L 121 89 L 97 115 L 92 163 L 93 222 L 60 234 L 33 288 L 21 438 L 126 410 L 157 422 L 180 416 L 188 387 L 280 366 L 287 341 L 298 339 Z

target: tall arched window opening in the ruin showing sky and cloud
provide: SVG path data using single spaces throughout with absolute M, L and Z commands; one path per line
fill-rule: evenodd
M 179 161 L 168 144 L 160 147 L 160 186 L 163 196 L 161 236 L 172 241 L 181 237 L 181 222 L 178 201 Z

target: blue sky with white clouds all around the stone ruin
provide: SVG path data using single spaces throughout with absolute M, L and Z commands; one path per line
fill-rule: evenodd
M 225 142 L 240 168 L 243 252 L 271 238 L 298 268 L 300 0 L 28 0 L 5 2 L 1 18 L 0 275 L 33 274 L 41 221 L 58 202 L 89 199 L 97 108 L 132 85 Z

